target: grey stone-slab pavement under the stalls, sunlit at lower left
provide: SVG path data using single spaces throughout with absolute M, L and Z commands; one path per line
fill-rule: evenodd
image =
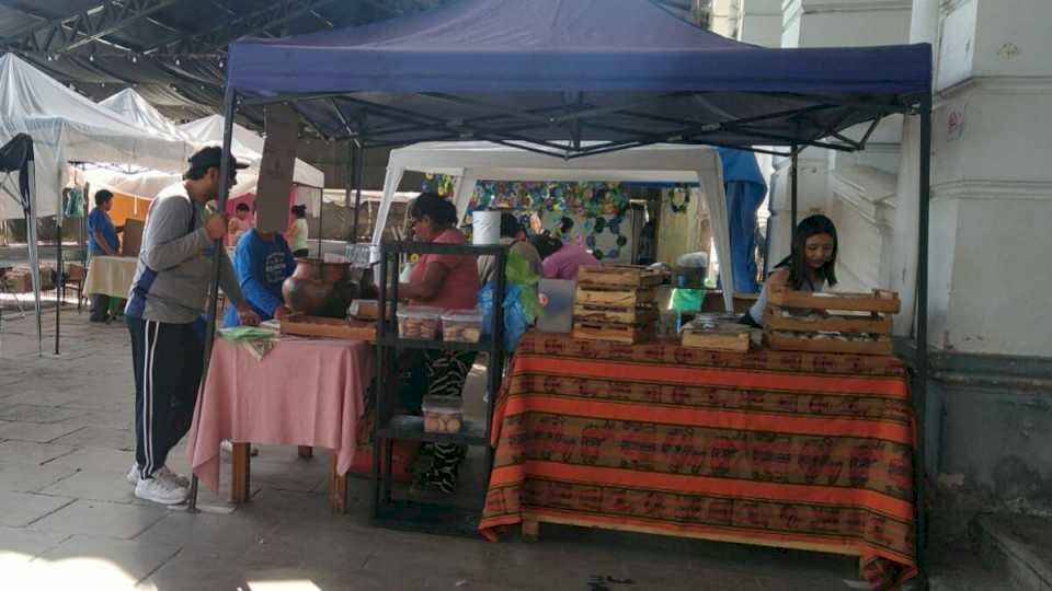
M 0 589 L 836 590 L 855 560 L 804 552 L 545 526 L 492 544 L 374 529 L 369 485 L 329 510 L 329 455 L 263 447 L 252 502 L 188 514 L 136 499 L 133 390 L 122 323 L 62 317 L 62 355 L 36 357 L 30 318 L 0 332 Z M 53 315 L 46 320 L 54 346 Z M 49 350 L 45 347 L 45 350 Z M 472 396 L 478 392 L 472 391 Z M 170 465 L 186 474 L 182 448 Z M 224 470 L 224 480 L 229 480 Z

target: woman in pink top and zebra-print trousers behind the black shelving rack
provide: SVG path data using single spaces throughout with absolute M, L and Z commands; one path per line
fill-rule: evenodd
M 423 193 L 410 207 L 412 230 L 420 242 L 467 244 L 455 228 L 457 210 L 434 193 Z M 398 286 L 399 298 L 410 305 L 430 305 L 443 310 L 468 310 L 478 303 L 479 274 L 474 257 L 467 255 L 423 255 L 413 266 L 409 282 Z M 422 394 L 460 396 L 474 352 L 408 351 L 400 360 L 399 379 L 402 403 L 407 410 L 419 412 Z M 411 494 L 418 498 L 441 498 L 457 487 L 457 470 L 465 449 L 454 443 L 437 443 L 434 457 L 423 474 L 415 478 Z

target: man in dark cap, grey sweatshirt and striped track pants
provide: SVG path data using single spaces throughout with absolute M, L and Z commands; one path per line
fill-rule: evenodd
M 241 324 L 260 322 L 241 294 L 226 250 L 216 247 L 227 234 L 227 219 L 205 209 L 224 183 L 233 186 L 237 169 L 247 167 L 231 157 L 230 175 L 222 178 L 221 157 L 218 147 L 198 150 L 183 182 L 153 199 L 124 312 L 135 371 L 135 465 L 128 480 L 136 497 L 162 505 L 179 505 L 188 495 L 186 478 L 164 464 L 194 416 L 204 361 L 195 323 L 204 312 L 214 256 L 220 258 L 219 285 Z

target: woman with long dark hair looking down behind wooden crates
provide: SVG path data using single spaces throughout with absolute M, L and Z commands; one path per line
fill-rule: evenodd
M 742 324 L 761 327 L 771 286 L 793 291 L 822 291 L 836 285 L 836 227 L 825 216 L 804 218 L 792 234 L 792 252 L 775 266 L 756 303 L 742 316 Z

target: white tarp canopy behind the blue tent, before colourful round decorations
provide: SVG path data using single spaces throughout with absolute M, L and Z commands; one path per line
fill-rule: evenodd
M 654 144 L 562 160 L 488 141 L 423 142 L 391 150 L 384 179 L 384 200 L 373 231 L 373 245 L 384 236 L 395 190 L 405 171 L 456 177 L 454 201 L 462 218 L 479 181 L 607 181 L 622 183 L 700 183 L 709 207 L 716 254 L 723 283 L 723 303 L 733 310 L 731 243 L 719 152 L 708 146 Z M 698 220 L 700 223 L 700 220 Z

